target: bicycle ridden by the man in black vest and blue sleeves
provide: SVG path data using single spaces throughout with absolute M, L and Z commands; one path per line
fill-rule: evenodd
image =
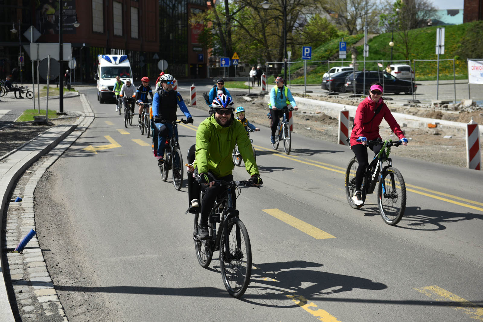
M 168 172 L 171 170 L 173 185 L 176 190 L 180 190 L 183 186 L 183 157 L 181 156 L 180 145 L 175 135 L 179 123 L 187 124 L 188 121 L 181 119 L 180 121 L 172 122 L 173 135 L 166 139 L 163 160 L 159 160 L 157 164 L 163 181 L 168 180 Z M 153 137 L 153 139 L 156 138 Z

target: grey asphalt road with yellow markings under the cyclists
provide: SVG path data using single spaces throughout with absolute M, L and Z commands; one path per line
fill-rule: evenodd
M 180 84 L 183 96 L 188 86 Z M 204 269 L 196 260 L 186 181 L 181 191 L 162 182 L 151 139 L 125 129 L 94 89 L 82 91 L 96 119 L 42 179 L 36 198 L 49 202 L 35 209 L 43 226 L 56 220 L 52 230 L 37 224 L 38 236 L 71 322 L 483 321 L 481 172 L 394 157 L 408 195 L 391 227 L 375 195 L 362 210 L 347 204 L 348 148 L 294 134 L 287 156 L 259 125 L 252 138 L 264 186 L 241 189 L 237 200 L 254 269 L 235 299 L 219 261 Z M 189 107 L 194 126 L 179 127 L 184 154 L 202 107 Z M 242 167 L 234 175 L 248 178 Z

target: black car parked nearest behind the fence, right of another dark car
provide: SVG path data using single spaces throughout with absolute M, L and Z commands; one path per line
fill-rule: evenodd
M 367 70 L 365 72 L 356 71 L 355 76 L 354 73 L 348 74 L 345 78 L 345 87 L 347 92 L 354 92 L 353 81 L 355 77 L 355 92 L 362 93 L 364 86 L 364 73 L 366 74 L 366 94 L 369 94 L 369 85 L 375 81 L 379 81 L 381 84 L 383 84 L 384 93 L 399 94 L 404 92 L 404 94 L 412 94 L 411 84 L 413 92 L 416 92 L 417 86 L 414 81 L 400 80 L 391 74 L 383 73 L 383 71 L 377 70 Z

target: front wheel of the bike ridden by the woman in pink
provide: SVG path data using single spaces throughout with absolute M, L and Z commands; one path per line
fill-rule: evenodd
M 377 203 L 384 222 L 397 225 L 406 209 L 406 185 L 398 169 L 391 167 L 384 170 L 377 191 Z

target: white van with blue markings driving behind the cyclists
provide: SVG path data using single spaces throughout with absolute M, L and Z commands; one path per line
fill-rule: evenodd
M 98 55 L 97 59 L 99 64 L 94 79 L 97 80 L 97 100 L 100 104 L 106 100 L 115 100 L 116 95 L 113 90 L 116 76 L 119 76 L 124 83 L 130 80 L 131 86 L 134 86 L 131 64 L 127 55 Z

